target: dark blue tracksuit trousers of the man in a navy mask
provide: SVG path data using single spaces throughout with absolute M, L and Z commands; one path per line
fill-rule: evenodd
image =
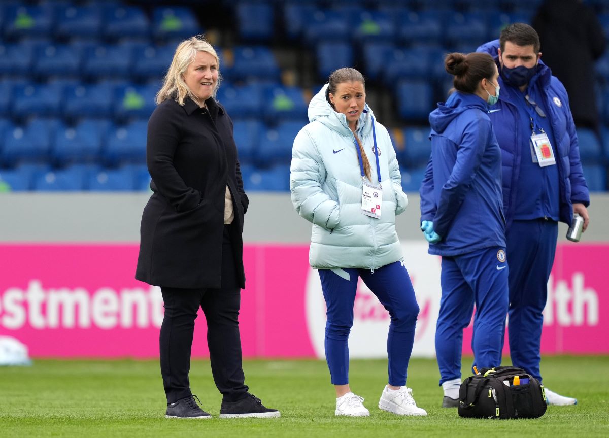
M 510 255 L 510 356 L 513 366 L 526 370 L 541 383 L 542 312 L 556 253 L 558 223 L 544 219 L 513 221 L 505 237 Z

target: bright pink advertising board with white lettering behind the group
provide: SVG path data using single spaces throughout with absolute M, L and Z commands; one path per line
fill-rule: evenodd
M 609 353 L 607 244 L 559 244 L 549 281 L 543 353 Z M 0 336 L 37 357 L 154 358 L 163 320 L 160 289 L 133 278 L 137 244 L 0 244 Z M 414 356 L 433 356 L 439 259 L 404 242 L 421 313 Z M 325 307 L 308 245 L 246 245 L 239 317 L 244 356 L 323 357 Z M 350 337 L 353 357 L 382 357 L 389 318 L 364 284 Z M 509 330 L 509 329 L 508 329 Z M 193 355 L 208 355 L 205 317 Z M 471 353 L 471 328 L 464 336 Z

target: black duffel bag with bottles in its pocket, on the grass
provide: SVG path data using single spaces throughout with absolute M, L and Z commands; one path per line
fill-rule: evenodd
M 516 367 L 482 369 L 459 389 L 459 416 L 485 419 L 535 419 L 546 412 L 543 386 Z

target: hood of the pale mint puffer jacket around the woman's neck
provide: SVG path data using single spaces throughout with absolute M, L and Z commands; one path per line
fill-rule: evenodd
M 345 116 L 343 113 L 334 111 L 334 108 L 330 102 L 328 102 L 328 99 L 326 99 L 328 85 L 329 83 L 326 83 L 326 85 L 319 90 L 319 93 L 315 94 L 315 96 L 311 99 L 311 102 L 309 102 L 309 122 L 319 120 L 329 129 L 339 133 L 340 135 L 351 137 L 353 136 L 353 133 L 351 133 L 351 130 L 349 129 L 347 116 Z M 361 115 L 359 115 L 357 135 L 362 136 L 370 133 L 370 130 L 372 129 L 372 124 L 370 122 L 371 116 L 374 116 L 372 110 L 368 104 L 364 104 L 364 111 L 362 111 Z

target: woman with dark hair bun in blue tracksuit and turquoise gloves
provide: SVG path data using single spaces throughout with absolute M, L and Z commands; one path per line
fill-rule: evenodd
M 501 151 L 488 118 L 499 97 L 490 55 L 449 54 L 454 88 L 429 115 L 431 157 L 421 184 L 421 230 L 429 253 L 442 256 L 442 299 L 435 349 L 444 389 L 442 406 L 457 406 L 463 328 L 471 320 L 479 368 L 501 363 L 508 308 Z

